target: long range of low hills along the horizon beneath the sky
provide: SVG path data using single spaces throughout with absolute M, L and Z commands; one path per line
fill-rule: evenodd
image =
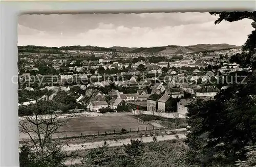
M 183 54 L 183 53 L 195 53 L 203 52 L 207 50 L 225 50 L 231 48 L 241 48 L 241 46 L 229 45 L 229 44 L 197 44 L 190 46 L 178 46 L 178 45 L 167 45 L 167 46 L 158 46 L 158 47 L 121 47 L 113 46 L 110 48 L 98 47 L 98 46 L 61 46 L 61 47 L 46 47 L 46 46 L 18 46 L 19 50 L 87 50 L 87 51 L 124 51 L 124 52 L 147 52 L 147 53 L 174 53 L 174 54 Z

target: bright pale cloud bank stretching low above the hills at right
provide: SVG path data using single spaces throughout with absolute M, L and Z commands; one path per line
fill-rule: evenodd
M 100 46 L 129 46 L 150 47 L 170 44 L 194 45 L 198 43 L 229 43 L 242 45 L 247 35 L 252 31 L 250 20 L 238 22 L 222 22 L 215 25 L 213 22 L 202 24 L 187 24 L 179 26 L 125 27 L 115 26 L 113 29 L 97 29 L 81 33 L 81 38 L 94 39 L 91 45 Z M 97 40 L 98 39 L 98 40 Z M 89 44 L 89 43 L 87 43 Z

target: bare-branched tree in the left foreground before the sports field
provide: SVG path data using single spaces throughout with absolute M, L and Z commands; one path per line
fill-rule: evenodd
M 75 152 L 65 152 L 61 144 L 53 140 L 53 135 L 60 132 L 59 128 L 66 124 L 66 120 L 60 119 L 58 114 L 42 116 L 52 110 L 51 105 L 41 105 L 36 100 L 33 106 L 33 116 L 23 116 L 19 121 L 20 132 L 27 134 L 29 140 L 20 148 L 19 161 L 21 167 L 51 167 L 65 166 L 64 162 L 70 157 L 80 157 Z M 79 150 L 79 149 L 78 149 Z

